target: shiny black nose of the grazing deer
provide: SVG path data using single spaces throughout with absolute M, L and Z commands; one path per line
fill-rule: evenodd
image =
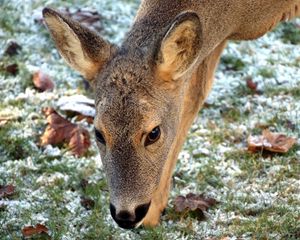
M 151 202 L 147 204 L 139 205 L 134 213 L 131 213 L 127 210 L 120 210 L 118 214 L 116 214 L 116 208 L 113 204 L 110 204 L 110 213 L 112 218 L 116 221 L 116 223 L 125 229 L 131 229 L 136 226 L 147 214 Z

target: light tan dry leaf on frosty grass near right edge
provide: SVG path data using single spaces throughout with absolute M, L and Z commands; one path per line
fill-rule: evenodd
M 296 142 L 296 138 L 288 137 L 281 133 L 272 133 L 265 129 L 262 136 L 249 136 L 248 150 L 251 152 L 267 150 L 276 153 L 286 153 Z

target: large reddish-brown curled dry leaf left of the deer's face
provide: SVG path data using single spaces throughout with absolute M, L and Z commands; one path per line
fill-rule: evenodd
M 48 126 L 41 136 L 42 146 L 66 142 L 74 155 L 81 156 L 87 151 L 91 145 L 87 130 L 64 119 L 53 108 L 45 108 L 43 112 Z

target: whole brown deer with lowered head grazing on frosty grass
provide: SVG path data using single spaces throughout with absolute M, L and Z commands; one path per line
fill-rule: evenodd
M 142 0 L 120 46 L 46 7 L 60 55 L 94 90 L 95 139 L 119 227 L 154 227 L 229 40 L 300 15 L 300 0 Z

